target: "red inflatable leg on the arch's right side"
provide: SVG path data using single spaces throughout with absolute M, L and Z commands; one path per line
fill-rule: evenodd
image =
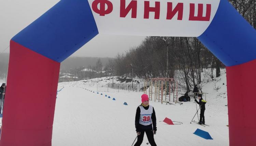
M 255 146 L 256 60 L 227 67 L 230 146 Z

